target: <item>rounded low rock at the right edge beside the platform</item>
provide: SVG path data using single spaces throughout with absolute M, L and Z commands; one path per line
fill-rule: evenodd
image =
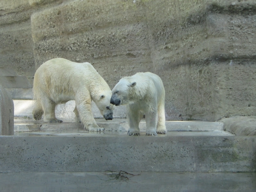
M 229 131 L 237 136 L 256 135 L 256 116 L 235 116 L 220 119 L 220 122 L 224 123 L 224 130 Z

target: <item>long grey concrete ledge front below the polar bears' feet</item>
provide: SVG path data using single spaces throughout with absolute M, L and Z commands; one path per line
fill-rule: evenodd
M 254 136 L 88 133 L 0 136 L 0 172 L 255 172 Z

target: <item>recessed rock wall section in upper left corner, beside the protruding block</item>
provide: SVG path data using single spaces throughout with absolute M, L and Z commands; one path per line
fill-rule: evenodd
M 33 84 L 36 71 L 31 15 L 61 3 L 60 0 L 1 0 L 0 1 L 0 67 L 12 67 Z

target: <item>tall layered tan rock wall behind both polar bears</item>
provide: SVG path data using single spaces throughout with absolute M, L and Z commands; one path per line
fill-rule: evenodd
M 92 63 L 110 88 L 123 76 L 150 71 L 163 80 L 169 117 L 256 114 L 254 0 L 4 0 L 0 6 L 6 7 L 0 10 L 4 65 L 31 77 L 56 57 Z

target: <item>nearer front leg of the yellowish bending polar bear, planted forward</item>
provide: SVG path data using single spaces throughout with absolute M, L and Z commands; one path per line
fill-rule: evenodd
M 104 131 L 104 128 L 101 128 L 97 125 L 93 115 L 91 107 L 91 98 L 86 97 L 86 92 L 83 94 L 77 94 L 76 96 L 76 109 L 79 113 L 81 123 L 84 124 L 84 129 L 87 131 Z

